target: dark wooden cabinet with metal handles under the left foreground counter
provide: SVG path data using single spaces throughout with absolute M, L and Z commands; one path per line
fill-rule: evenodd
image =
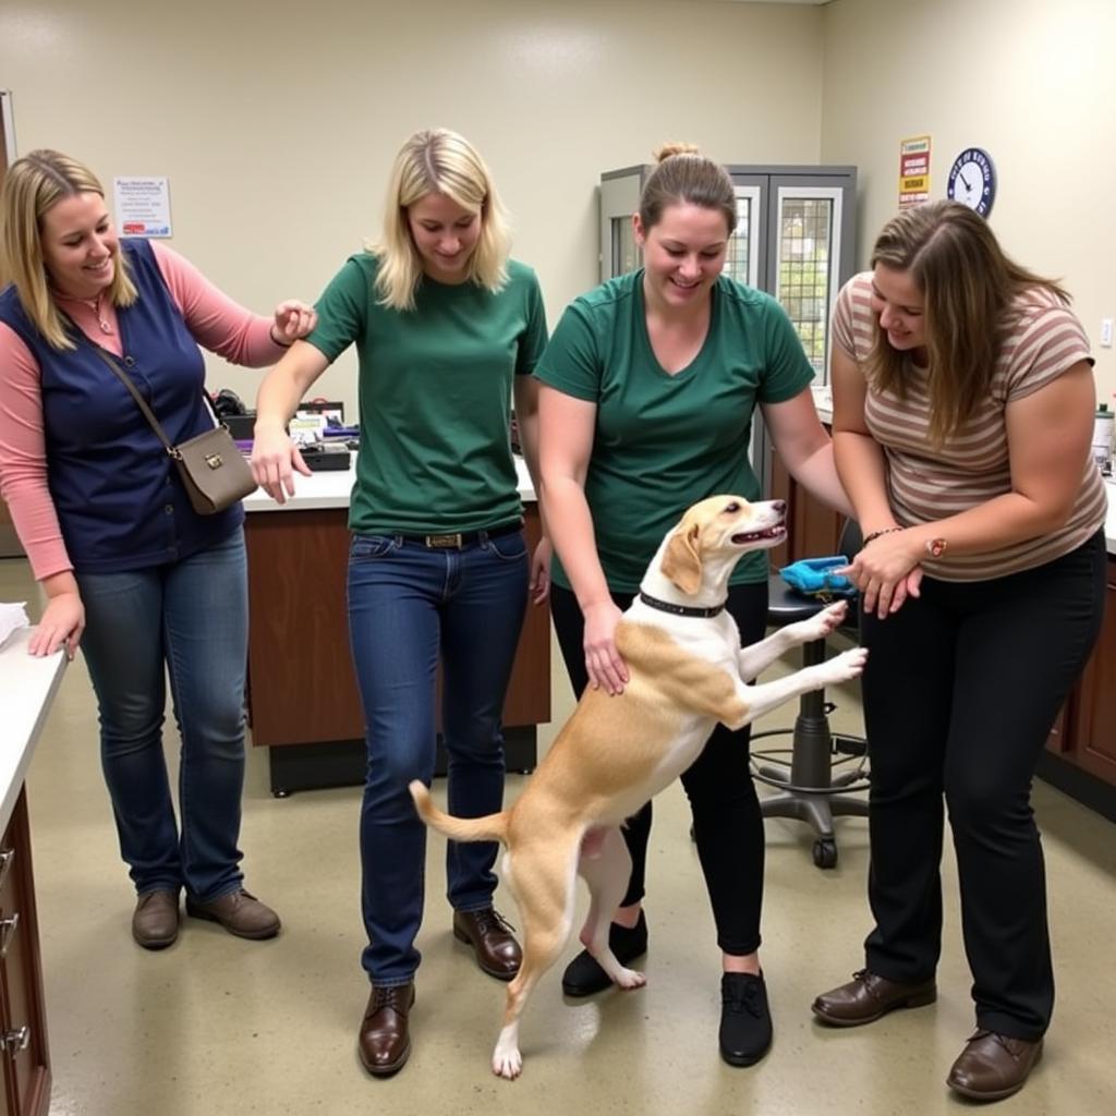
M 39 923 L 27 791 L 0 838 L 0 1114 L 46 1116 L 50 1105 Z

